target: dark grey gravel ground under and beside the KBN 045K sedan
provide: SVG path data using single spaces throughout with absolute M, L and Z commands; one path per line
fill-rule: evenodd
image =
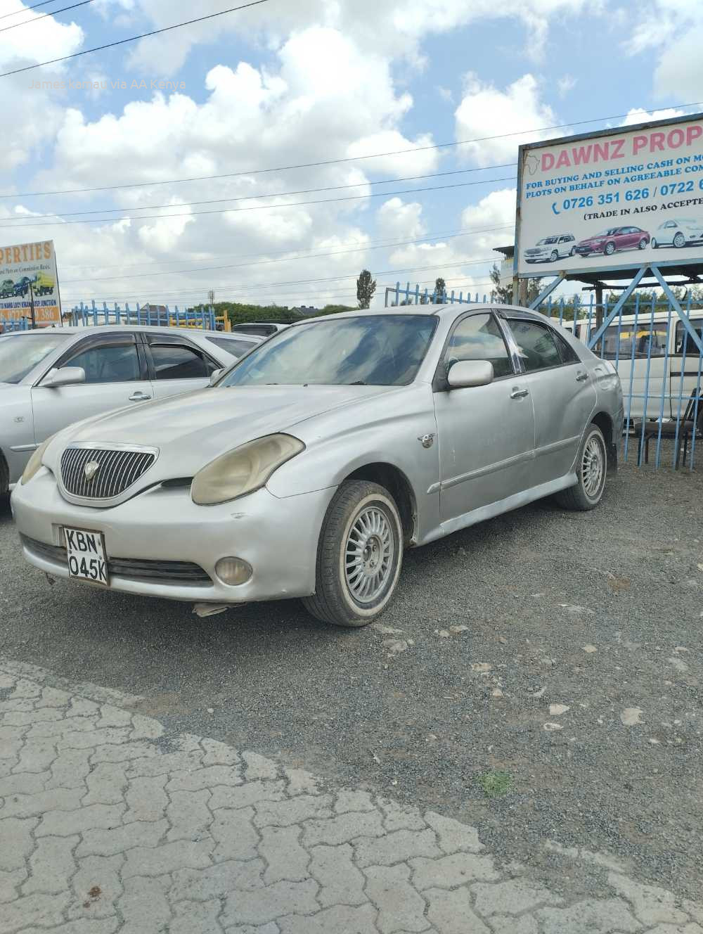
M 143 695 L 174 733 L 441 807 L 544 878 L 581 847 L 696 898 L 702 503 L 703 474 L 626 465 L 593 513 L 539 502 L 410 552 L 381 623 L 350 631 L 297 602 L 199 619 L 50 586 L 0 505 L 0 652 Z M 589 865 L 576 882 L 606 894 Z

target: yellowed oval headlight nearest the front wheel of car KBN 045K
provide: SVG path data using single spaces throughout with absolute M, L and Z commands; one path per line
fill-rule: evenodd
M 200 506 L 235 500 L 253 493 L 287 460 L 305 449 L 290 434 L 269 434 L 212 460 L 193 477 L 190 497 Z

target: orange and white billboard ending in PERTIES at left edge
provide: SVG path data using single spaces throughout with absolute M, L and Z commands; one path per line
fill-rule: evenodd
M 0 320 L 31 319 L 33 300 L 37 325 L 61 323 L 53 240 L 0 247 Z

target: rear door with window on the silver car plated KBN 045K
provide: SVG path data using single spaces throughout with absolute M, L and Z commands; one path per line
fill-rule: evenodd
M 509 318 L 526 373 L 535 417 L 535 460 L 530 486 L 569 473 L 596 405 L 588 370 L 563 337 L 532 318 Z

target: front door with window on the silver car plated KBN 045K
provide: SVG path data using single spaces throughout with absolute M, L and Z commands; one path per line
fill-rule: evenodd
M 447 367 L 459 360 L 491 361 L 494 381 L 466 389 L 443 386 Z M 494 315 L 470 312 L 457 319 L 435 386 L 442 521 L 529 487 L 535 443 L 532 399 L 524 377 L 514 372 Z

